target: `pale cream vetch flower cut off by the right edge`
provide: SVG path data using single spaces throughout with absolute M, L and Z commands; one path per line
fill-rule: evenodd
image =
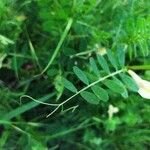
M 150 82 L 143 80 L 134 71 L 128 70 L 130 76 L 135 80 L 139 87 L 138 93 L 145 99 L 150 99 Z

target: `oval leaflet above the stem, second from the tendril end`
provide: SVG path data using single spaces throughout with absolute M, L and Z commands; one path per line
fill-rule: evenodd
M 86 77 L 85 73 L 80 69 L 78 68 L 77 66 L 74 66 L 73 67 L 73 71 L 74 73 L 76 74 L 76 76 L 85 84 L 89 84 L 89 80 L 88 78 Z

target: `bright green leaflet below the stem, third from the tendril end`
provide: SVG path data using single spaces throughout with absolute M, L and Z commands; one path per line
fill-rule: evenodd
M 113 92 L 123 94 L 124 88 L 116 81 L 107 79 L 104 84 Z

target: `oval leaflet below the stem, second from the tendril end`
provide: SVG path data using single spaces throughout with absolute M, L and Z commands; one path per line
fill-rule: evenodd
M 109 96 L 106 90 L 104 90 L 103 88 L 94 85 L 91 87 L 92 91 L 94 92 L 94 94 L 102 101 L 108 101 Z

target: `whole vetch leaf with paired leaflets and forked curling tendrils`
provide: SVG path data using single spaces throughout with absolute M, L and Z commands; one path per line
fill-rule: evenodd
M 98 62 L 98 63 L 97 63 Z M 47 117 L 51 116 L 64 104 L 80 95 L 86 102 L 92 105 L 98 105 L 101 102 L 109 100 L 109 91 L 114 94 L 119 94 L 123 98 L 128 98 L 128 90 L 138 92 L 139 88 L 136 82 L 127 75 L 127 67 L 125 66 L 125 51 L 124 47 L 117 49 L 117 55 L 112 50 L 107 50 L 107 55 L 101 56 L 97 54 L 97 62 L 93 57 L 90 58 L 90 66 L 92 74 L 97 80 L 88 78 L 85 71 L 74 66 L 73 71 L 77 78 L 85 85 L 84 88 L 78 90 L 75 85 L 68 79 L 63 78 L 64 87 L 70 90 L 74 95 L 64 100 L 60 104 L 49 104 L 39 102 L 44 105 L 56 107 Z M 26 97 L 25 95 L 22 97 Z M 29 96 L 27 96 L 30 98 Z M 32 100 L 35 100 L 32 98 Z M 35 100 L 38 102 L 37 100 Z

